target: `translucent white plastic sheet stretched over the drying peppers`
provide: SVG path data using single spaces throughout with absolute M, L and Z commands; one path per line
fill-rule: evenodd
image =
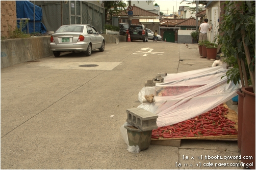
M 227 84 L 227 70 L 214 66 L 189 72 L 167 74 L 156 87 L 143 87 L 139 92 L 142 103 L 145 95 L 155 92 L 155 102 L 138 108 L 158 115 L 157 125 L 167 126 L 208 112 L 237 95 L 240 85 Z M 221 77 L 224 76 L 222 79 Z M 169 94 L 166 91 L 170 91 Z M 172 93 L 172 94 L 170 94 Z M 165 96 L 160 96 L 165 95 Z

